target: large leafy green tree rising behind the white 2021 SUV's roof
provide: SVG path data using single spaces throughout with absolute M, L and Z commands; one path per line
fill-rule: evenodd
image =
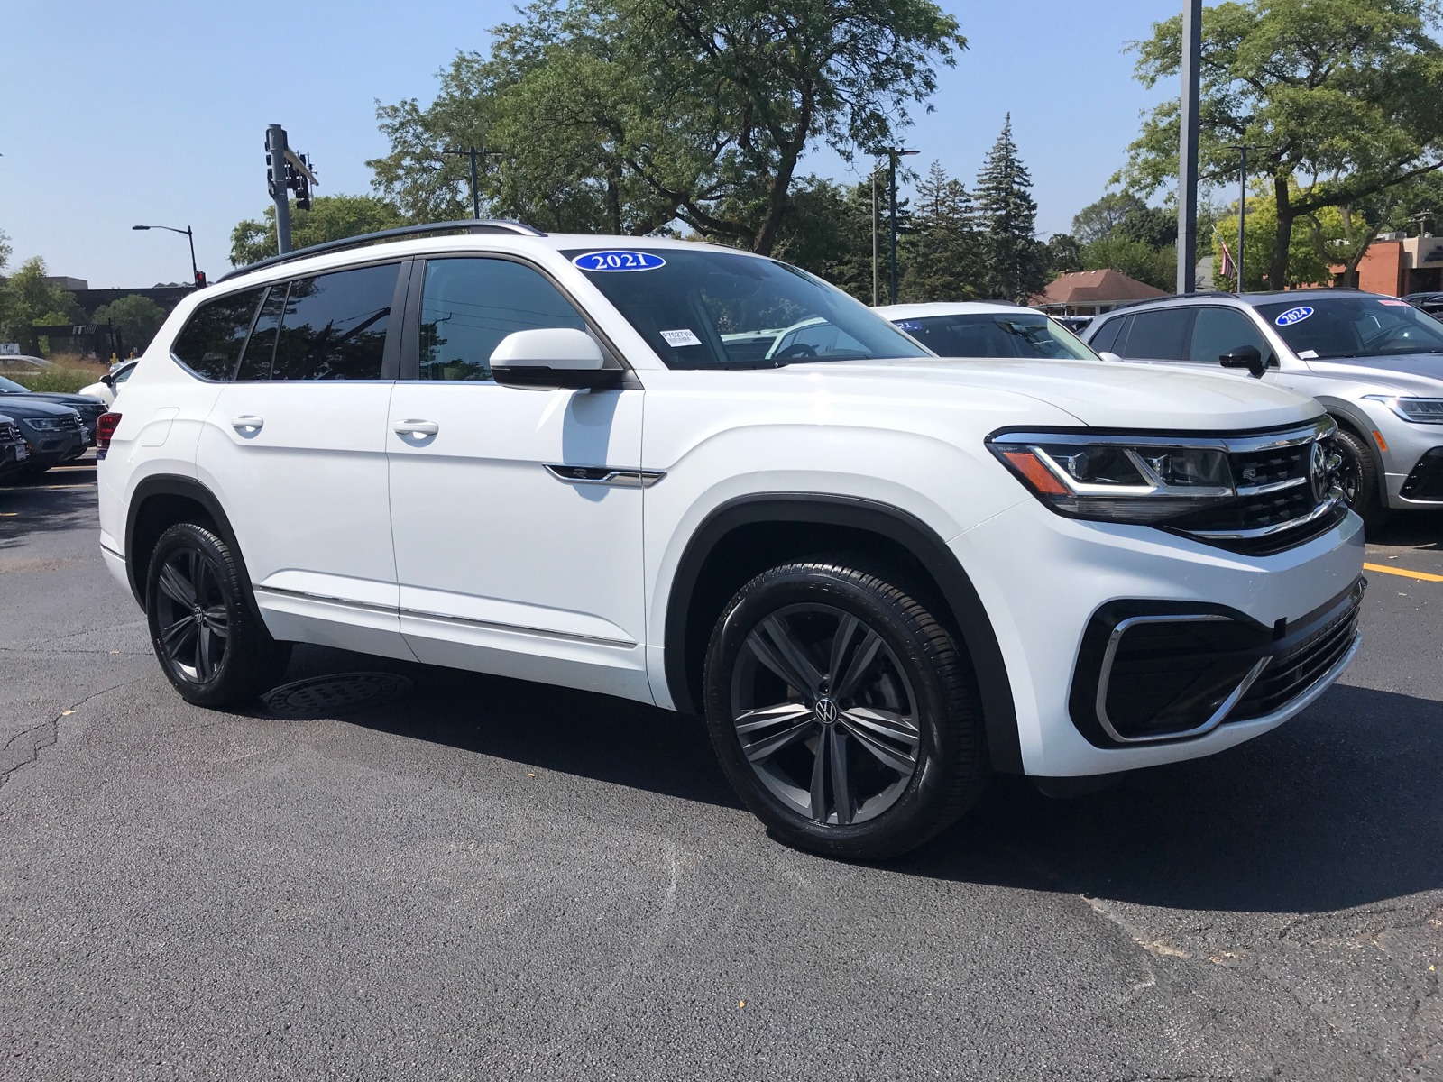
M 377 190 L 411 215 L 459 186 L 444 144 L 495 150 L 494 214 L 644 235 L 680 221 L 768 254 L 802 154 L 886 144 L 965 48 L 932 0 L 537 0 L 463 53 L 426 110 L 380 107 Z

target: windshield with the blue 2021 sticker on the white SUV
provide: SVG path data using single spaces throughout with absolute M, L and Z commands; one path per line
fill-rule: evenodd
M 697 248 L 563 252 L 670 368 L 773 368 L 928 356 L 807 271 Z

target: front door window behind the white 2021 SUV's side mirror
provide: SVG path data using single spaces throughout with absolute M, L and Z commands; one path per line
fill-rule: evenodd
M 430 260 L 421 289 L 420 378 L 491 379 L 491 355 L 515 330 L 586 320 L 540 271 L 496 258 Z

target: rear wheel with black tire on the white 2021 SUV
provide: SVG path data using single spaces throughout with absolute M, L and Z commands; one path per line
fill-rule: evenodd
M 206 525 L 180 522 L 156 541 L 146 619 L 160 668 L 188 703 L 218 707 L 280 682 L 290 643 L 255 617 L 240 563 Z

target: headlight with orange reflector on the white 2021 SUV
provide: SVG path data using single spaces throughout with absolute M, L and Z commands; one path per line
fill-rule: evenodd
M 1238 498 L 1221 441 L 1003 433 L 987 446 L 1038 499 L 1069 518 L 1154 524 Z

